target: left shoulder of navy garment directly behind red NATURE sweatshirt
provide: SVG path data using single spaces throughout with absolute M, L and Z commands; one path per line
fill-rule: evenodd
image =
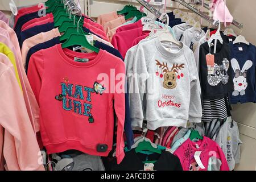
M 56 44 L 60 44 L 60 37 L 57 36 L 56 38 L 53 38 L 51 40 L 48 40 L 47 42 L 36 44 L 36 46 L 31 47 L 29 51 L 27 52 L 27 58 L 26 58 L 26 73 L 28 71 L 28 63 L 30 61 L 30 57 L 32 54 L 40 51 L 41 49 L 47 49 L 49 47 L 55 46 Z

